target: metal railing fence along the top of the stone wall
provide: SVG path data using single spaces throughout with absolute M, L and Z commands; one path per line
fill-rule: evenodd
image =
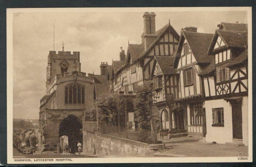
M 129 140 L 140 141 L 148 144 L 158 144 L 159 142 L 152 134 L 151 130 L 132 129 L 112 125 L 99 125 L 98 133 L 108 134 Z

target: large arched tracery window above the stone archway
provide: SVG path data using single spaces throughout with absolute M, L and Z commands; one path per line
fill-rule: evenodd
M 65 103 L 84 103 L 84 86 L 80 84 L 68 84 L 65 87 Z

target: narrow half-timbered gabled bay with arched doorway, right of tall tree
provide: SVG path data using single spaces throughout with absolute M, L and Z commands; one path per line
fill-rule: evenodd
M 156 56 L 151 78 L 155 96 L 154 105 L 162 123 L 163 131 L 168 133 L 187 132 L 184 113 L 179 102 L 179 73 L 173 68 L 176 52 L 171 57 Z

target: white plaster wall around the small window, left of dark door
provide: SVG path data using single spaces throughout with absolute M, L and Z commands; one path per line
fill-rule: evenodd
M 212 126 L 212 109 L 221 108 L 224 110 L 224 127 Z M 205 141 L 225 144 L 232 142 L 232 106 L 223 99 L 205 101 L 206 136 Z

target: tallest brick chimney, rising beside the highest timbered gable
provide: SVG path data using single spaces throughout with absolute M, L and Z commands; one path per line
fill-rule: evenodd
M 145 50 L 156 39 L 156 23 L 155 12 L 145 12 L 144 18 L 144 32 L 141 34 L 142 44 L 144 44 Z

